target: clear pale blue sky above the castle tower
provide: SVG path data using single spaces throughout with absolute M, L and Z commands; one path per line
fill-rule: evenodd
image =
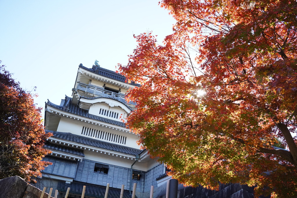
M 71 96 L 78 65 L 116 70 L 136 46 L 133 34 L 161 42 L 175 23 L 159 0 L 0 1 L 0 60 L 40 107 Z

